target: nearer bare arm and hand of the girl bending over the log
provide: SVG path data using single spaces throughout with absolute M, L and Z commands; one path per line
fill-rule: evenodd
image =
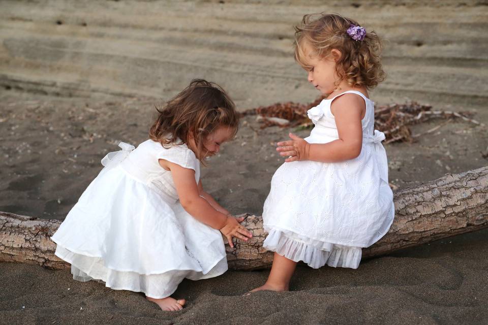
M 248 237 L 252 237 L 252 234 L 241 226 L 234 217 L 217 211 L 204 198 L 200 197 L 194 170 L 164 159 L 159 159 L 159 164 L 164 169 L 171 171 L 179 202 L 195 219 L 211 228 L 220 230 L 227 237 L 231 247 L 234 247 L 232 236 L 245 241 L 248 240 Z

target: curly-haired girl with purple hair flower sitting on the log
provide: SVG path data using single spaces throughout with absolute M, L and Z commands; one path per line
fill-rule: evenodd
M 288 290 L 298 261 L 356 269 L 361 248 L 379 240 L 394 216 L 385 136 L 374 130 L 368 96 L 384 76 L 378 36 L 335 14 L 306 15 L 295 29 L 295 59 L 327 98 L 308 111 L 309 137 L 278 143 L 287 158 L 263 211 L 263 246 L 275 256 L 266 283 L 253 291 Z

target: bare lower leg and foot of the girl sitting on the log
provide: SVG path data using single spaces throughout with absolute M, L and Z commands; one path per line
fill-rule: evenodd
M 295 267 L 296 262 L 275 252 L 273 266 L 271 267 L 271 272 L 269 273 L 266 283 L 251 290 L 251 292 L 259 290 L 288 291 L 291 276 L 295 271 Z

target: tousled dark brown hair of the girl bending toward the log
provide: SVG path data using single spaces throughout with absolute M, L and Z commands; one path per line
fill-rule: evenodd
M 208 152 L 204 140 L 218 127 L 229 127 L 233 138 L 239 126 L 234 102 L 222 87 L 203 79 L 193 79 L 188 87 L 156 110 L 159 114 L 150 128 L 149 138 L 167 148 L 173 143 L 188 144 L 192 136 L 197 157 L 204 157 Z

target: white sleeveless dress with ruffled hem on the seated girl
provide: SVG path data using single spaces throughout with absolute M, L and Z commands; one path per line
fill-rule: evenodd
M 344 93 L 355 93 L 366 103 L 359 156 L 339 163 L 284 163 L 273 175 L 264 203 L 263 223 L 268 232 L 264 248 L 312 268 L 327 264 L 356 269 L 361 247 L 383 237 L 394 216 L 381 144 L 385 136 L 374 130 L 374 103 L 359 91 Z M 339 139 L 330 112 L 330 104 L 338 96 L 308 111 L 315 127 L 304 140 L 327 143 Z

